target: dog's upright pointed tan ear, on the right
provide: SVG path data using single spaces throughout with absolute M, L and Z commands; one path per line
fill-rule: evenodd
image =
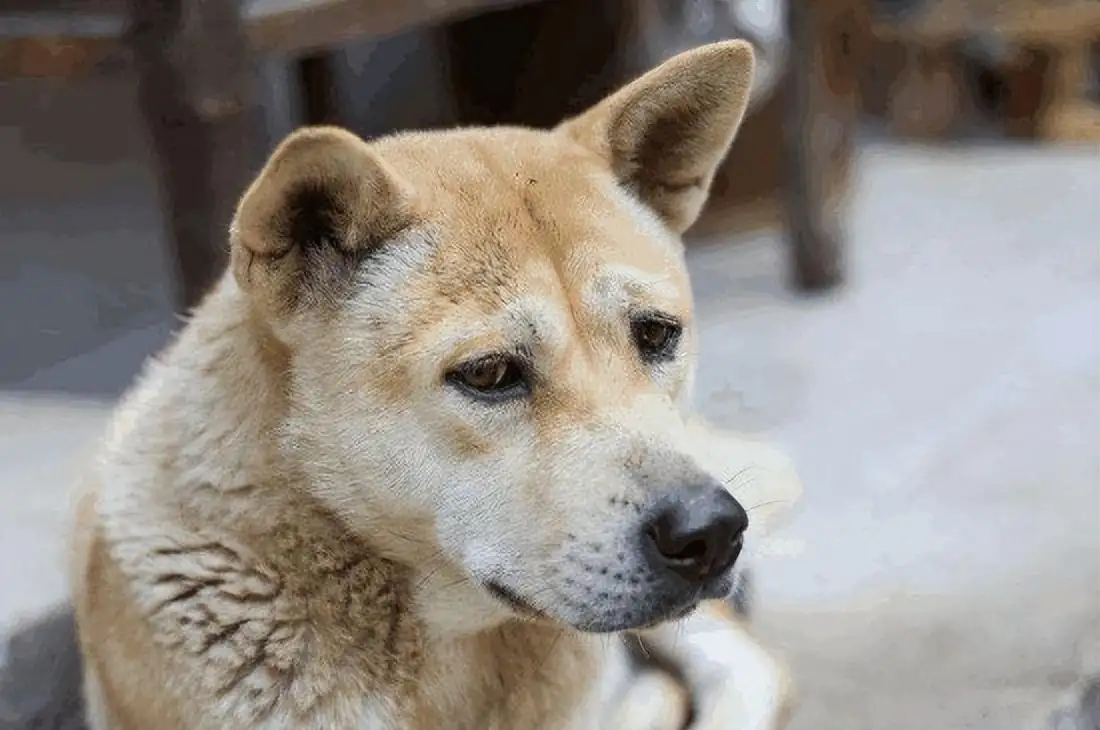
M 752 46 L 726 41 L 675 56 L 565 121 L 618 179 L 682 233 L 698 217 L 745 115 Z

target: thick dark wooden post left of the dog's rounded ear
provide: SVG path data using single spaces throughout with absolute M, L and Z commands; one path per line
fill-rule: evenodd
M 238 0 L 130 0 L 127 41 L 187 310 L 226 265 L 233 208 L 266 147 L 252 53 Z

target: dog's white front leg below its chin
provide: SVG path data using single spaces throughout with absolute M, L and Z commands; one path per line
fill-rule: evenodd
M 785 667 L 722 601 L 647 630 L 646 646 L 681 672 L 692 695 L 690 730 L 780 730 L 793 704 Z

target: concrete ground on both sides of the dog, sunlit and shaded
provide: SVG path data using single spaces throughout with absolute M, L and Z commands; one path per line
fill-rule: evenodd
M 0 88 L 35 120 L 0 129 L 0 628 L 64 598 L 75 460 L 175 327 L 132 99 L 80 93 Z M 1100 660 L 1100 150 L 858 169 L 839 295 L 788 292 L 772 236 L 689 256 L 702 408 L 805 482 L 760 631 L 795 730 L 1035 727 Z

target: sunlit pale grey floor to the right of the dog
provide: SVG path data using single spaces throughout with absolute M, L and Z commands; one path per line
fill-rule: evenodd
M 1100 154 L 861 170 L 843 296 L 777 296 L 766 243 L 692 257 L 707 410 L 806 485 L 762 628 L 796 728 L 1028 727 L 1100 659 Z

